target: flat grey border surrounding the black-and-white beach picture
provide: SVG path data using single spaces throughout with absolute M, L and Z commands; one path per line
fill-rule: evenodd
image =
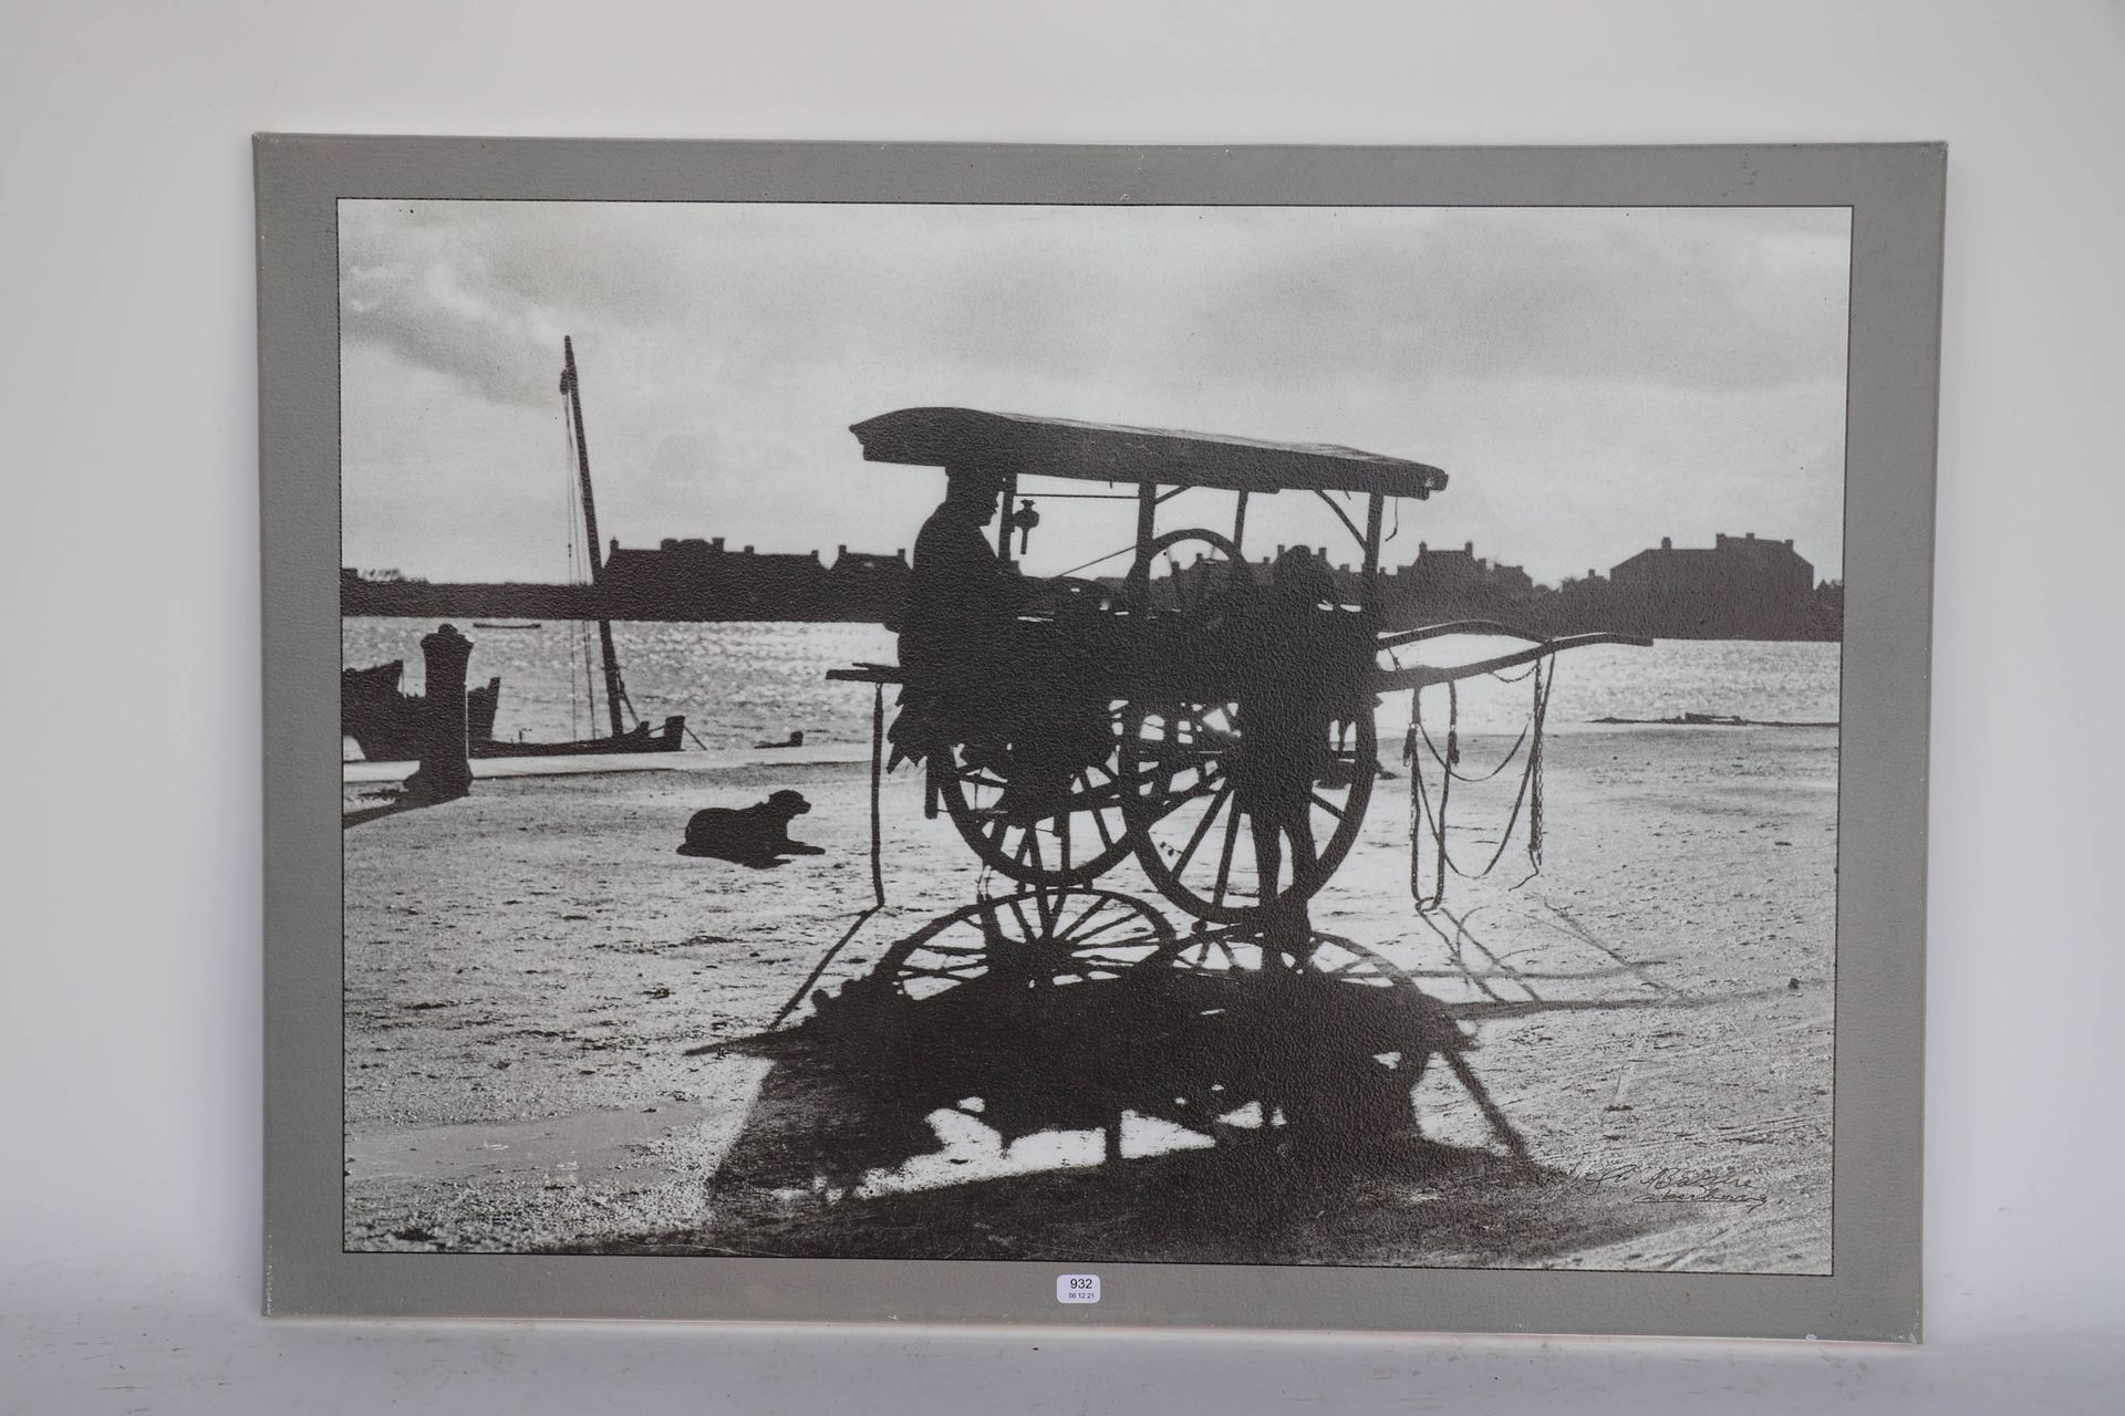
M 1919 1337 L 1925 794 L 1946 149 L 997 146 L 259 136 L 266 1310 Z M 342 197 L 1849 206 L 1832 1276 L 342 1253 Z

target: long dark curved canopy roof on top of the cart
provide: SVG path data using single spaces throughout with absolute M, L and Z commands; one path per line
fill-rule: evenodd
M 1381 493 L 1430 497 L 1447 473 L 1377 452 L 1328 444 L 1256 442 L 1216 433 L 986 414 L 975 408 L 901 408 L 850 427 L 873 463 L 907 463 L 1014 478 L 1084 478 L 1218 486 L 1235 493 Z

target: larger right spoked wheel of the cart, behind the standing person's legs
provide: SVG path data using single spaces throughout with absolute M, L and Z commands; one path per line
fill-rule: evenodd
M 1137 862 L 1158 894 L 1213 923 L 1311 900 L 1356 845 L 1379 775 L 1364 705 L 1328 728 L 1303 822 L 1266 822 L 1243 790 L 1247 747 L 1232 703 L 1139 705 L 1124 715 L 1122 802 Z

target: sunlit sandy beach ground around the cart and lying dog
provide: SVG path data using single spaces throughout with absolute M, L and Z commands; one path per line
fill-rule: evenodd
M 1545 754 L 1538 877 L 1519 883 L 1515 845 L 1420 915 L 1398 777 L 1313 902 L 1318 932 L 1445 1006 L 1526 1161 L 1445 1066 L 1415 1125 L 1381 1115 L 1371 1144 L 1294 1155 L 1258 1117 L 1084 1127 L 1054 1078 L 1135 1047 L 1099 1032 L 1120 1015 L 1071 1023 L 1067 1049 L 1024 1034 L 1052 1057 L 984 1053 L 963 1104 L 935 1108 L 895 1076 L 924 1061 L 920 1036 L 822 1051 L 812 989 L 835 998 L 1005 887 L 922 819 L 903 769 L 888 904 L 865 913 L 867 764 L 848 747 L 489 775 L 404 813 L 374 813 L 389 769 L 351 769 L 346 811 L 368 819 L 344 832 L 346 1244 L 1828 1272 L 1836 732 L 1572 730 Z M 784 788 L 822 856 L 674 853 L 695 809 Z M 1509 805 L 1458 798 L 1456 849 L 1488 858 Z M 1133 862 L 1101 885 L 1156 900 Z M 748 1042 L 793 996 L 784 1032 Z M 1334 1028 L 1292 1047 L 1330 1057 Z M 1128 1057 L 1158 1091 L 1164 1053 Z

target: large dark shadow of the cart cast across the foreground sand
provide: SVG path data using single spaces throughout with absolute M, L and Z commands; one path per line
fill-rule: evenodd
M 1462 1028 L 1330 934 L 1024 892 L 812 1002 L 699 1049 L 774 1061 L 703 1223 L 597 1253 L 1526 1265 L 1674 1221 L 1528 1161 Z M 1426 1138 L 1420 1085 L 1464 1087 L 1490 1140 Z

